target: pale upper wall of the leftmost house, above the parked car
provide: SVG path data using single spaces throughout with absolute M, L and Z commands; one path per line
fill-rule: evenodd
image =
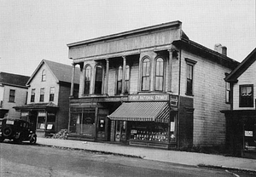
M 9 102 L 10 89 L 15 90 L 15 102 Z M 9 110 L 8 117 L 20 118 L 20 112 L 15 111 L 13 107 L 22 106 L 26 104 L 26 92 L 27 92 L 27 88 L 18 88 L 18 87 L 4 85 L 3 108 Z

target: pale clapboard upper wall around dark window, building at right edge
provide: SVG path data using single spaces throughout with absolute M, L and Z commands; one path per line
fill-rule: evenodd
M 238 82 L 234 84 L 233 94 L 233 109 L 234 110 L 255 110 L 255 99 L 256 99 L 256 62 L 244 71 L 240 77 L 237 78 Z M 239 107 L 239 85 L 242 84 L 253 84 L 253 107 Z

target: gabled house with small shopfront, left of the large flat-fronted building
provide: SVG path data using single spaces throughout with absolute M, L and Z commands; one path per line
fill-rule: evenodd
M 73 67 L 42 60 L 26 83 L 27 104 L 16 106 L 21 118 L 33 123 L 39 136 L 67 128 L 69 94 Z M 78 90 L 78 79 L 73 83 Z

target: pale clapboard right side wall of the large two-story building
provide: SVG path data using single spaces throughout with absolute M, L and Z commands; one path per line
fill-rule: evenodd
M 195 54 L 182 51 L 181 95 L 194 99 L 194 144 L 212 146 L 224 144 L 225 117 L 220 110 L 229 109 L 225 103 L 225 72 L 230 69 Z M 186 61 L 197 61 L 194 66 L 193 96 L 186 95 Z

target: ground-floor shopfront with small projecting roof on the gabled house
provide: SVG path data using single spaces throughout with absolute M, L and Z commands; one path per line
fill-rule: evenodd
M 32 123 L 36 129 L 38 137 L 51 136 L 57 131 L 56 114 L 58 106 L 50 104 L 28 104 L 16 106 L 15 110 L 20 111 L 22 120 Z

